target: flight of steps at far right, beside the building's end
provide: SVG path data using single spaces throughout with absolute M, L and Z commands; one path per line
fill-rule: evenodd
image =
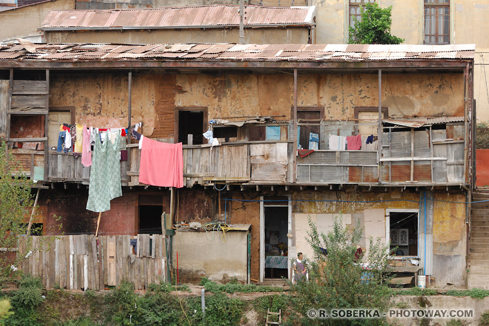
M 489 289 L 489 188 L 478 188 L 472 202 L 467 287 Z

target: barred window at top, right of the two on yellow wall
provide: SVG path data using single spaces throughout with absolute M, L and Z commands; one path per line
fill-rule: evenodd
M 450 43 L 450 0 L 424 0 L 424 43 Z

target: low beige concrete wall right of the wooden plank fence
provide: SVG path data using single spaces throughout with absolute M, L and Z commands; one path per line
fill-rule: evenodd
M 226 232 L 179 232 L 174 236 L 173 261 L 178 269 L 180 282 L 200 281 L 207 277 L 214 281 L 236 278 L 248 280 L 248 235 L 246 231 Z M 213 238 L 212 238 L 213 237 Z

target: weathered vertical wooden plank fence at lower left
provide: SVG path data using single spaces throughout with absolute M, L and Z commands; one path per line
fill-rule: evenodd
M 32 248 L 39 248 L 41 238 L 32 236 Z M 62 235 L 43 243 L 42 248 L 19 267 L 25 274 L 42 278 L 47 289 L 100 290 L 126 280 L 136 290 L 144 290 L 166 280 L 165 238 L 160 234 Z M 25 241 L 20 242 L 18 252 L 20 257 L 28 255 Z

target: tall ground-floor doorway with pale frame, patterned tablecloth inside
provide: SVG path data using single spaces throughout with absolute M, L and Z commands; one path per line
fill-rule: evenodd
M 261 197 L 260 202 L 260 282 L 289 278 L 292 214 L 290 195 Z

